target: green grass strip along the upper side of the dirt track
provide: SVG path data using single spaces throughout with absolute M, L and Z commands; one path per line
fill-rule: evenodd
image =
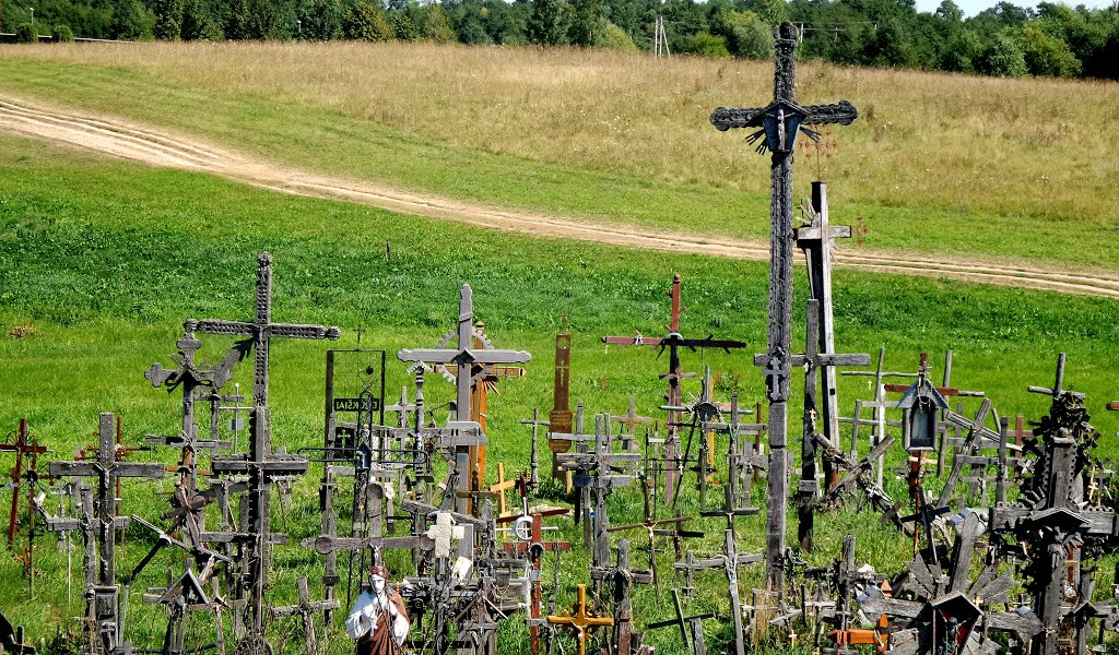
M 0 91 L 182 131 L 282 164 L 487 206 L 554 212 L 576 220 L 609 220 L 634 229 L 681 230 L 762 240 L 768 235 L 768 160 L 755 155 L 745 145 L 734 148 L 735 156 L 741 158 L 736 161 L 744 162 L 746 177 L 740 170 L 727 171 L 727 177 L 717 182 L 711 179 L 709 173 L 692 178 L 666 173 L 651 168 L 651 164 L 650 170 L 634 170 L 626 162 L 619 162 L 617 167 L 584 165 L 577 163 L 577 158 L 557 163 L 549 159 L 546 144 L 540 145 L 540 151 L 534 155 L 526 155 L 498 146 L 471 144 L 469 140 L 462 143 L 462 137 L 457 134 L 440 134 L 430 129 L 407 130 L 391 121 L 379 121 L 375 117 L 378 103 L 375 97 L 309 99 L 279 85 L 276 88 L 260 85 L 247 91 L 239 79 L 184 78 L 173 70 L 162 70 L 159 65 L 148 65 L 147 61 L 137 63 L 128 56 L 122 56 L 116 64 L 91 64 L 37 60 L 31 50 L 21 53 L 26 54 L 26 58 L 13 56 L 0 59 Z M 236 53 L 226 51 L 225 56 L 239 56 Z M 177 61 L 181 55 L 168 50 L 152 54 L 154 60 L 161 61 Z M 214 56 L 209 50 L 197 54 Z M 288 55 L 295 56 L 294 53 Z M 320 55 L 330 61 L 337 54 L 304 54 L 311 57 Z M 425 86 L 442 84 L 439 75 L 432 73 L 431 79 L 420 77 L 413 80 L 407 87 L 408 93 L 425 97 L 424 94 L 441 91 Z M 819 72 L 814 79 L 827 79 L 827 70 Z M 696 89 L 686 94 L 688 106 L 706 106 L 704 103 L 708 102 L 711 93 L 703 87 L 706 83 L 711 80 L 697 80 Z M 864 84 L 874 86 L 878 83 Z M 881 88 L 875 88 L 881 93 Z M 472 92 L 477 94 L 477 89 Z M 562 97 L 563 93 L 557 93 L 556 102 Z M 374 106 L 366 107 L 365 103 Z M 206 111 L 196 111 L 199 106 L 205 106 Z M 463 111 L 474 110 L 477 107 L 469 103 L 463 106 Z M 880 108 L 880 114 L 885 116 L 886 112 Z M 702 116 L 693 118 L 703 120 Z M 525 117 L 518 114 L 517 120 Z M 592 114 L 586 120 L 593 122 L 601 117 Z M 629 116 L 627 120 L 640 122 L 653 118 Z M 894 116 L 893 120 L 900 118 Z M 485 122 L 479 122 L 472 129 L 485 131 L 487 126 Z M 525 129 L 535 130 L 532 122 Z M 891 141 L 892 136 L 882 136 L 882 133 L 893 134 L 893 129 L 891 123 L 857 123 L 852 129 L 850 139 L 858 144 L 857 151 L 871 154 L 852 153 L 830 164 L 833 219 L 852 222 L 856 216 L 865 217 L 871 230 L 866 248 L 952 259 L 1015 260 L 1041 266 L 1119 267 L 1119 249 L 1090 246 L 1107 244 L 1115 238 L 1116 224 L 1106 210 L 1098 215 L 1078 212 L 1066 216 L 1061 207 L 1043 206 L 1041 201 L 1025 208 L 1015 205 L 1013 209 L 1000 207 L 997 202 L 969 201 L 970 186 L 978 179 L 978 169 L 984 168 L 982 162 L 974 160 L 974 150 L 997 148 L 999 143 L 1010 140 L 1010 135 L 999 141 L 984 133 L 976 137 L 977 141 L 968 143 L 966 154 L 944 164 L 951 171 L 939 171 L 937 174 L 965 178 L 944 182 L 943 186 L 961 189 L 958 197 L 946 201 L 930 198 L 931 192 L 922 184 L 931 173 L 922 172 L 920 167 L 932 165 L 928 162 L 931 155 L 922 153 L 938 139 L 937 130 L 948 127 L 930 126 L 928 133 L 921 132 L 919 136 L 913 136 L 913 130 L 900 130 L 897 143 Z M 674 134 L 678 126 L 674 127 Z M 722 136 L 725 142 L 720 143 L 720 152 L 727 143 L 740 143 L 736 136 Z M 681 137 L 693 139 L 689 133 L 674 136 L 677 140 Z M 843 142 L 846 137 L 840 135 L 839 139 Z M 877 144 L 880 139 L 886 140 L 881 148 Z M 988 143 L 987 139 L 995 140 Z M 533 142 L 530 135 L 526 135 L 526 142 Z M 609 144 L 592 140 L 586 148 L 601 150 Z M 909 152 L 909 156 L 899 154 L 904 152 Z M 626 153 L 624 148 L 619 146 L 617 158 L 626 160 Z M 887 154 L 902 158 L 897 164 L 902 168 L 891 172 L 900 178 L 883 181 L 883 184 L 894 184 L 893 190 L 883 190 L 881 194 L 852 193 L 848 187 L 862 175 L 862 167 L 856 162 L 866 161 L 866 156 Z M 1040 155 L 1031 152 L 1022 156 L 1034 160 Z M 697 151 L 694 156 L 697 167 L 706 165 L 704 152 Z M 1100 163 L 1102 170 L 1085 168 L 1084 174 L 1091 179 L 1096 174 L 1106 178 L 1108 165 Z M 677 168 L 679 162 L 669 167 L 674 171 Z M 970 169 L 977 170 L 968 175 Z M 1089 173 L 1090 169 L 1094 172 Z M 800 170 L 798 197 L 807 197 L 811 175 L 807 167 Z M 509 180 L 517 183 L 508 183 Z M 998 183 L 1005 184 L 1006 181 L 999 178 Z M 1035 182 L 1021 180 L 1021 184 L 1031 189 Z M 969 190 L 965 191 L 962 184 L 969 184 Z M 911 190 L 902 191 L 903 186 Z M 1099 192 L 1106 196 L 1109 191 Z M 1008 196 L 1014 199 L 1013 192 Z

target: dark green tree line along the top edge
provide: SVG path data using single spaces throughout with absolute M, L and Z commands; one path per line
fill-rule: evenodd
M 953 0 L 39 0 L 39 34 L 167 40 L 361 39 L 645 50 L 664 17 L 670 51 L 768 58 L 773 26 L 803 27 L 800 56 L 995 76 L 1119 79 L 1119 0 L 1107 9 L 1006 0 L 971 18 Z M 0 25 L 30 22 L 0 3 Z

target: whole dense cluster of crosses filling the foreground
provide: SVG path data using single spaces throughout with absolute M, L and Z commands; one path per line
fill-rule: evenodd
M 683 283 L 676 275 L 662 336 L 601 339 L 651 348 L 658 355 L 667 351 L 668 371 L 658 376 L 667 390 L 650 402 L 665 412 L 664 421 L 640 416 L 636 397 L 620 415 L 591 418 L 583 402 L 572 409 L 573 336 L 564 315 L 552 409 L 547 419 L 537 409 L 520 421 L 530 429 L 529 462 L 510 480 L 502 462 L 497 481 L 488 480 L 488 395 L 502 378 L 524 376 L 520 364 L 532 357 L 493 345 L 477 321 L 472 289 L 463 285 L 454 328 L 434 348 L 396 353 L 414 381 L 393 405 L 385 404 L 385 351 L 363 349 L 360 331 L 356 349 L 327 350 L 321 446 L 288 453 L 272 439 L 271 342 L 337 340 L 341 332 L 273 322 L 272 258 L 264 253 L 253 319 L 187 320 L 175 366 L 156 363 L 144 373 L 156 388 L 181 391 L 178 434 L 148 435 L 142 448 L 145 454 L 177 449 L 173 465 L 129 461 L 139 458 L 141 448 L 124 445 L 121 420 L 107 412 L 98 421 L 97 444 L 75 461 L 50 462 L 45 475 L 38 458 L 48 450 L 26 421 L 0 444 L 0 453 L 16 458 L 8 541 L 23 540 L 18 528 L 26 505 L 22 561 L 32 597 L 39 515 L 67 548 L 72 533 L 84 543 L 84 610 L 73 637 L 97 655 L 270 654 L 280 647 L 278 623 L 297 626 L 301 649 L 317 655 L 342 638 L 340 624 L 368 590 L 368 570 L 388 562 L 410 618 L 405 647 L 416 653 L 496 654 L 498 633 L 510 620 L 527 626 L 533 655 L 566 652 L 572 642 L 580 655 L 648 655 L 655 649 L 648 633 L 664 627 L 678 628 L 684 648 L 704 655 L 712 638 L 705 634 L 707 619 L 730 626 L 730 637 L 722 630 L 718 639 L 737 655 L 759 639 L 772 639 L 771 630 L 790 646 L 808 639 L 810 647 L 835 654 L 865 647 L 921 655 L 1007 648 L 1056 655 L 1085 653 L 1090 640 L 1102 644 L 1104 630 L 1119 629 L 1119 604 L 1097 592 L 1094 564 L 1119 543 L 1115 467 L 1092 455 L 1100 435 L 1089 423 L 1085 396 L 1064 387 L 1064 355 L 1052 387 L 1028 389 L 1052 400 L 1049 412 L 1026 429 L 1023 416 L 1012 427 L 1012 418 L 999 416 L 981 391 L 951 386 L 951 351 L 939 386 L 928 354 L 915 371 L 886 371 L 882 349 L 871 371 L 852 370 L 869 367 L 869 354 L 837 352 L 833 249 L 852 228 L 830 224 L 822 182 L 812 183 L 805 224 L 793 227 L 793 152 L 798 134 L 818 137 L 809 125 L 848 125 L 857 111 L 846 101 L 796 102 L 797 42 L 792 25 L 778 28 L 769 105 L 720 107 L 711 118 L 722 131 L 752 130 L 747 141 L 771 154 L 769 324 L 765 351 L 753 358 L 765 407 L 745 407 L 736 393 L 723 402 L 709 369 L 702 376 L 685 370 L 689 352 L 732 354 L 747 344 L 684 336 Z M 805 254 L 809 283 L 802 352 L 792 344 L 794 245 Z M 216 362 L 199 361 L 203 336 L 233 342 Z M 239 385 L 227 387 L 248 359 L 253 381 L 246 398 Z M 805 373 L 799 478 L 788 409 L 797 369 Z M 451 402 L 429 406 L 429 373 L 454 385 Z M 840 374 L 873 378 L 873 398 L 855 399 L 850 416 L 841 416 Z M 700 388 L 687 400 L 694 378 Z M 974 414 L 967 412 L 966 398 L 980 404 Z M 208 426 L 200 429 L 198 417 L 207 409 Z M 441 409 L 448 410 L 446 420 L 440 420 Z M 1119 410 L 1119 401 L 1107 409 Z M 386 412 L 395 420 L 386 420 Z M 844 425 L 849 430 L 841 434 Z M 552 454 L 553 475 L 545 481 L 537 447 L 542 428 Z M 902 454 L 904 464 L 888 469 L 887 462 Z M 295 539 L 275 518 L 298 502 L 293 485 L 312 465 L 321 467 L 320 530 Z M 173 482 L 158 521 L 123 512 L 124 478 Z M 893 481 L 903 481 L 908 497 L 891 496 L 887 486 L 899 486 Z M 721 500 L 712 501 L 713 490 Z M 516 503 L 508 502 L 510 492 Z M 48 493 L 58 496 L 57 504 L 47 501 Z M 640 520 L 612 525 L 620 502 L 637 506 L 629 501 L 638 497 Z M 881 575 L 857 564 L 854 537 L 847 535 L 834 563 L 809 567 L 802 558 L 817 549 L 816 518 L 840 505 L 896 526 L 912 544 L 913 559 L 892 576 Z M 792 545 L 790 510 L 797 518 Z M 752 543 L 743 525 L 759 514 L 765 535 Z M 562 558 L 575 557 L 564 554 L 572 542 L 558 538 L 568 516 L 582 525 L 591 564 L 585 576 L 576 571 L 568 580 L 574 588 L 560 579 Z M 700 530 L 702 523 L 708 529 Z M 720 528 L 709 530 L 716 523 Z M 117 544 L 130 526 L 145 534 L 150 549 L 119 566 Z M 714 549 L 715 540 L 696 543 L 708 534 L 722 534 Z M 634 535 L 645 568 L 631 562 Z M 294 598 L 289 604 L 278 600 L 274 588 L 275 548 L 285 544 L 313 552 L 314 561 L 322 558 L 321 577 L 297 578 L 298 596 L 289 596 Z M 166 585 L 141 594 L 144 604 L 164 610 L 162 642 L 133 644 L 131 586 L 163 550 L 176 553 L 176 566 Z M 670 573 L 658 566 L 669 553 Z M 740 588 L 743 572 L 754 566 L 761 583 Z M 566 569 L 568 578 L 575 569 Z M 650 585 L 659 601 L 669 575 L 674 616 L 652 616 L 659 614 L 655 608 L 642 616 L 650 608 L 634 604 L 633 586 Z M 685 609 L 689 601 L 699 605 L 697 579 L 716 578 L 725 578 L 725 604 Z M 557 608 L 560 595 L 573 597 L 570 609 Z M 34 652 L 2 615 L 0 633 L 3 649 Z

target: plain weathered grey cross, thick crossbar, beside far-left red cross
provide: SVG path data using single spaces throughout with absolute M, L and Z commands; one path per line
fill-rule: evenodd
M 120 590 L 116 586 L 115 549 L 116 529 L 126 525 L 116 516 L 116 482 L 122 477 L 145 477 L 159 480 L 163 477 L 162 464 L 139 464 L 117 462 L 116 459 L 116 419 L 111 412 L 104 412 L 98 420 L 101 448 L 95 462 L 51 462 L 49 473 L 54 477 L 95 477 L 97 485 L 96 520 L 98 557 L 88 564 L 96 567 L 96 577 L 91 570 L 86 579 L 94 580 L 92 589 L 87 589 L 87 616 L 100 629 L 101 648 L 103 653 L 126 653 L 130 648 L 124 640 L 124 626 L 120 621 Z M 92 495 L 91 495 L 92 501 Z M 92 554 L 93 544 L 86 543 L 87 556 Z M 98 566 L 100 564 L 100 566 Z

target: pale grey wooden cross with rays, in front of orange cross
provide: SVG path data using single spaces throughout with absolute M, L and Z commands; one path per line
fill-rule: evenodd
M 481 345 L 476 343 L 479 339 Z M 451 347 L 451 341 L 455 345 Z M 495 364 L 513 364 L 527 362 L 533 355 L 521 350 L 496 350 L 489 347 L 489 341 L 485 335 L 479 334 L 474 329 L 474 303 L 473 292 L 469 284 L 463 284 L 459 295 L 459 324 L 458 328 L 444 336 L 439 348 L 402 350 L 396 353 L 401 361 L 425 362 L 429 364 L 455 364 L 455 416 L 459 425 L 470 419 L 470 396 L 471 388 L 476 382 L 483 381 Z M 480 369 L 476 369 L 480 367 Z M 478 370 L 476 374 L 472 371 Z M 481 430 L 479 429 L 479 433 Z M 480 444 L 480 442 L 479 442 Z M 477 447 L 477 445 L 474 446 Z M 461 444 L 455 446 L 454 467 L 458 477 L 458 491 L 470 494 L 481 491 L 482 480 L 480 471 L 470 469 L 470 445 Z M 449 490 L 450 491 L 450 490 Z M 459 496 L 458 511 L 469 513 L 470 497 Z

